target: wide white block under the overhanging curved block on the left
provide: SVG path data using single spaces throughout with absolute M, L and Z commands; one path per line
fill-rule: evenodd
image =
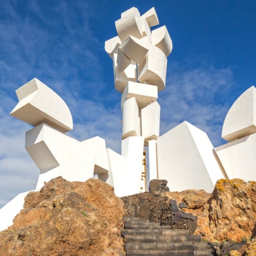
M 40 170 L 36 189 L 58 176 L 86 181 L 109 171 L 105 141 L 100 137 L 79 142 L 42 124 L 27 131 L 26 150 Z

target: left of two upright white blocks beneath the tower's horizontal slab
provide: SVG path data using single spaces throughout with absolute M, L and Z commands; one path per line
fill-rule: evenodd
M 139 108 L 133 97 L 123 103 L 122 139 L 139 135 L 141 135 Z

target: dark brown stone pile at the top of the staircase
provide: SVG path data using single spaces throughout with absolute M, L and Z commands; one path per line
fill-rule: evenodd
M 167 180 L 151 180 L 148 190 L 149 192 L 121 198 L 125 203 L 127 216 L 160 222 L 161 226 L 171 226 L 172 229 L 189 229 L 189 234 L 195 232 L 197 216 L 183 211 L 187 208 L 186 204 L 178 206 L 175 200 L 162 195 L 162 192 L 169 191 Z

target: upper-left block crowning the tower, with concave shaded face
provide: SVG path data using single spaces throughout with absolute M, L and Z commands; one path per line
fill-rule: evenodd
M 121 19 L 115 22 L 117 34 L 123 42 L 128 36 L 135 36 L 135 38 L 142 38 L 142 21 L 139 19 L 138 9 L 132 7 L 121 14 Z

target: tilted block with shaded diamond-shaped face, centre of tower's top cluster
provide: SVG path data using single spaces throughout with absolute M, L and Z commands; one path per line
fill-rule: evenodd
M 141 63 L 148 52 L 148 43 L 134 36 L 128 36 L 120 47 L 125 55 L 136 63 Z

